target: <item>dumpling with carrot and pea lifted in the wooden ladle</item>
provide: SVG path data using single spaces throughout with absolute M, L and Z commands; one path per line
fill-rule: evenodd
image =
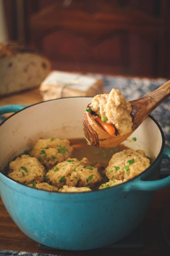
M 86 109 L 94 112 L 95 121 L 110 135 L 125 135 L 132 131 L 131 110 L 131 104 L 117 89 L 112 89 L 109 94 L 96 95 Z

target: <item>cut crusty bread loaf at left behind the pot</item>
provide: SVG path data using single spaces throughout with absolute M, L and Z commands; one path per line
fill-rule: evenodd
M 32 49 L 0 44 L 0 96 L 38 87 L 50 68 L 50 61 Z

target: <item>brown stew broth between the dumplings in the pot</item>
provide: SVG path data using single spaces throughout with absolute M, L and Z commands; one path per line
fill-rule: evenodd
M 127 149 L 127 147 L 123 144 L 118 145 L 116 148 L 97 148 L 88 145 L 85 139 L 69 139 L 69 141 L 74 148 L 72 153 L 73 158 L 81 160 L 83 157 L 86 157 L 89 161 L 89 165 L 91 166 L 101 164 L 101 167 L 98 168 L 98 171 L 102 177 L 102 180 L 95 183 L 93 187 L 90 185 L 90 188 L 92 190 L 98 190 L 99 186 L 102 183 L 109 181 L 105 176 L 104 170 L 108 166 L 112 155 L 124 149 Z

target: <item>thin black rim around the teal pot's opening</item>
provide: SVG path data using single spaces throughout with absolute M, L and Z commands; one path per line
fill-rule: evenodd
M 29 105 L 29 106 L 26 106 L 25 108 L 21 109 L 21 110 L 18 110 L 17 112 L 13 113 L 12 115 L 10 115 L 9 117 L 7 117 L 5 120 L 3 120 L 1 123 L 0 123 L 0 127 L 1 125 L 3 125 L 8 119 L 10 119 L 11 117 L 13 117 L 14 115 L 18 114 L 19 112 L 21 111 L 24 111 L 25 109 L 27 108 L 31 108 L 33 106 L 36 106 L 36 105 L 39 105 L 39 104 L 43 104 L 45 102 L 50 102 L 50 101 L 56 101 L 56 100 L 62 100 L 62 99 L 68 99 L 68 98 L 93 98 L 92 96 L 73 96 L 73 97 L 63 97 L 63 98 L 57 98 L 57 99 L 52 99 L 52 100 L 46 100 L 46 101 L 41 101 L 41 102 L 38 102 L 38 103 L 35 103 L 35 104 L 32 104 L 32 105 Z M 116 186 L 112 186 L 112 187 L 107 187 L 105 189 L 115 189 L 117 186 L 122 186 L 126 183 L 128 183 L 129 181 L 133 181 L 135 179 L 137 179 L 138 177 L 142 176 L 144 173 L 146 173 L 150 168 L 152 168 L 156 162 L 158 162 L 158 160 L 160 159 L 160 156 L 162 155 L 162 152 L 163 152 L 163 149 L 165 147 L 165 136 L 164 136 L 164 133 L 163 133 L 163 130 L 162 130 L 162 127 L 160 126 L 160 124 L 158 123 L 158 121 L 156 121 L 154 119 L 154 117 L 152 117 L 151 115 L 148 115 L 148 117 L 150 119 L 152 119 L 154 121 L 154 123 L 158 126 L 159 130 L 160 130 L 160 133 L 161 133 L 161 137 L 162 137 L 162 145 L 161 145 L 161 148 L 160 148 L 160 152 L 158 154 L 158 156 L 154 159 L 154 161 L 152 162 L 152 164 L 150 166 L 148 166 L 143 172 L 141 172 L 140 174 L 136 175 L 135 177 L 123 182 L 123 183 L 120 183 Z M 147 117 L 146 117 L 147 118 Z M 0 173 L 3 174 L 3 172 L 0 170 Z M 5 174 L 3 174 L 3 176 L 5 176 L 7 179 L 10 179 L 12 181 L 14 181 L 15 183 L 19 183 L 20 185 L 23 185 L 25 187 L 28 187 L 27 185 L 23 184 L 23 183 L 20 183 L 18 181 L 15 181 L 14 179 L 10 178 L 10 177 L 7 177 Z M 65 192 L 65 193 L 59 193 L 58 191 L 46 191 L 46 190 L 43 190 L 43 189 L 37 189 L 37 188 L 34 188 L 34 187 L 29 187 L 31 189 L 36 189 L 36 190 L 41 190 L 41 191 L 44 191 L 44 192 L 52 192 L 52 193 L 58 193 L 58 194 L 85 194 L 85 193 L 89 193 L 89 192 L 93 192 L 93 193 L 99 193 L 99 191 L 105 191 L 105 189 L 98 189 L 96 191 L 86 191 L 86 192 L 83 192 L 83 193 L 80 193 L 80 192 Z

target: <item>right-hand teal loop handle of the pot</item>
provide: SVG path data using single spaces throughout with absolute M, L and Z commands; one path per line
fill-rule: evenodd
M 170 161 L 170 148 L 165 145 L 162 159 L 166 158 Z M 155 180 L 155 181 L 144 181 L 144 180 L 136 180 L 131 184 L 127 184 L 125 186 L 124 191 L 130 191 L 130 190 L 143 190 L 143 191 L 153 191 L 158 189 L 165 189 L 167 187 L 170 187 L 170 175 L 166 178 Z

